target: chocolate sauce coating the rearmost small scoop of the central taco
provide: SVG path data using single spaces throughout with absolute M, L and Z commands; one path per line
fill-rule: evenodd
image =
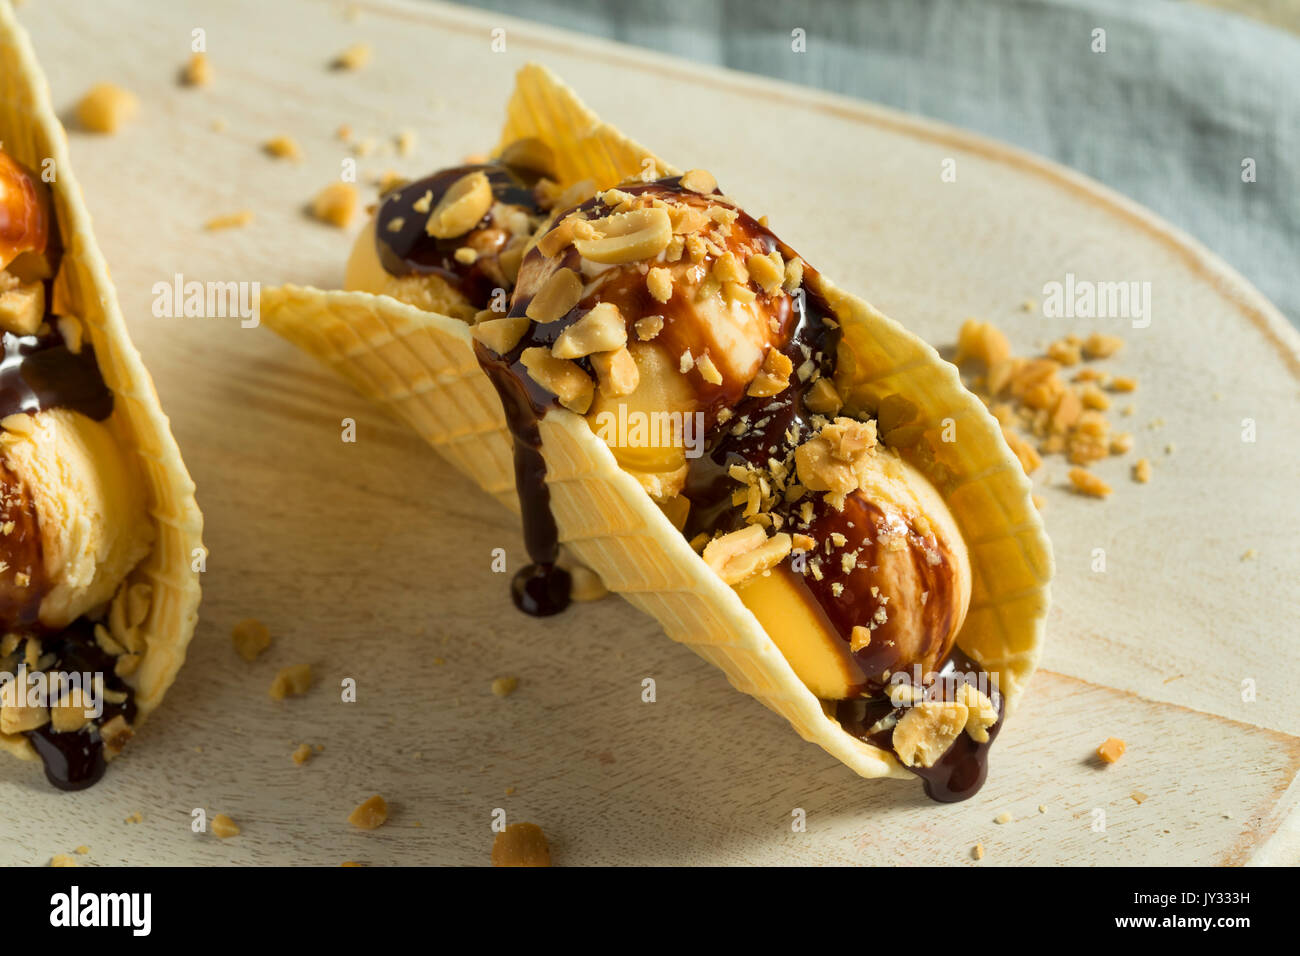
M 521 207 L 537 219 L 545 215 L 534 189 L 538 182 L 537 173 L 498 163 L 455 166 L 410 182 L 385 196 L 374 217 L 374 245 L 380 263 L 389 274 L 441 276 L 459 289 L 474 308 L 488 308 L 495 289 L 504 287 L 507 293 L 510 291 L 510 282 L 499 274 L 494 263 L 495 254 L 504 248 L 511 233 L 490 228 L 493 225 L 490 209 L 463 235 L 439 239 L 425 230 L 429 211 L 438 204 L 447 190 L 458 179 L 477 172 L 488 174 L 488 182 L 498 203 Z M 413 208 L 416 203 L 421 203 L 424 208 L 421 200 L 426 194 L 428 209 L 416 211 Z M 455 252 L 465 245 L 465 237 L 476 232 L 478 237 L 474 248 L 478 258 L 473 263 L 462 263 L 455 258 Z

